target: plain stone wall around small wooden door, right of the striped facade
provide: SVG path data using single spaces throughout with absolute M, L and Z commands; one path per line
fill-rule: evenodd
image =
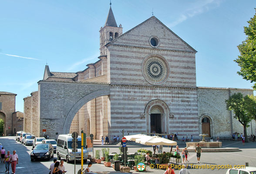
M 199 133 L 202 134 L 202 118 L 208 116 L 212 121 L 212 137 L 230 138 L 234 132 L 243 133 L 243 126 L 238 120 L 230 116 L 230 111 L 226 110 L 225 100 L 234 93 L 244 95 L 253 94 L 253 90 L 229 90 L 227 88 L 210 89 L 198 88 L 198 113 L 199 113 Z M 252 121 L 253 134 L 255 133 L 255 121 Z M 247 128 L 247 134 L 251 134 L 251 127 Z

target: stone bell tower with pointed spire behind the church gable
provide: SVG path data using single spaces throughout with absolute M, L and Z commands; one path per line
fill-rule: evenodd
M 120 36 L 123 33 L 122 25 L 120 24 L 119 27 L 117 26 L 115 22 L 115 17 L 113 14 L 113 11 L 111 9 L 111 1 L 110 1 L 110 8 L 108 11 L 108 17 L 105 22 L 104 27 L 101 27 L 100 29 L 100 55 L 105 55 L 106 50 L 104 49 L 104 45 L 110 42 L 111 40 L 114 40 L 118 36 Z

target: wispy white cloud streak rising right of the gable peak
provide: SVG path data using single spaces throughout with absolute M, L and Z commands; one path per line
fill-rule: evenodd
M 203 0 L 200 3 L 195 3 L 195 6 L 185 10 L 180 16 L 170 23 L 168 27 L 174 27 L 179 23 L 187 20 L 188 18 L 194 17 L 195 15 L 205 13 L 206 11 L 210 10 L 210 8 L 219 7 L 221 0 Z

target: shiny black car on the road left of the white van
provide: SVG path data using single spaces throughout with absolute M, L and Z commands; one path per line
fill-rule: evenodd
M 30 154 L 31 161 L 36 159 L 47 159 L 54 157 L 54 148 L 51 144 L 37 144 Z

